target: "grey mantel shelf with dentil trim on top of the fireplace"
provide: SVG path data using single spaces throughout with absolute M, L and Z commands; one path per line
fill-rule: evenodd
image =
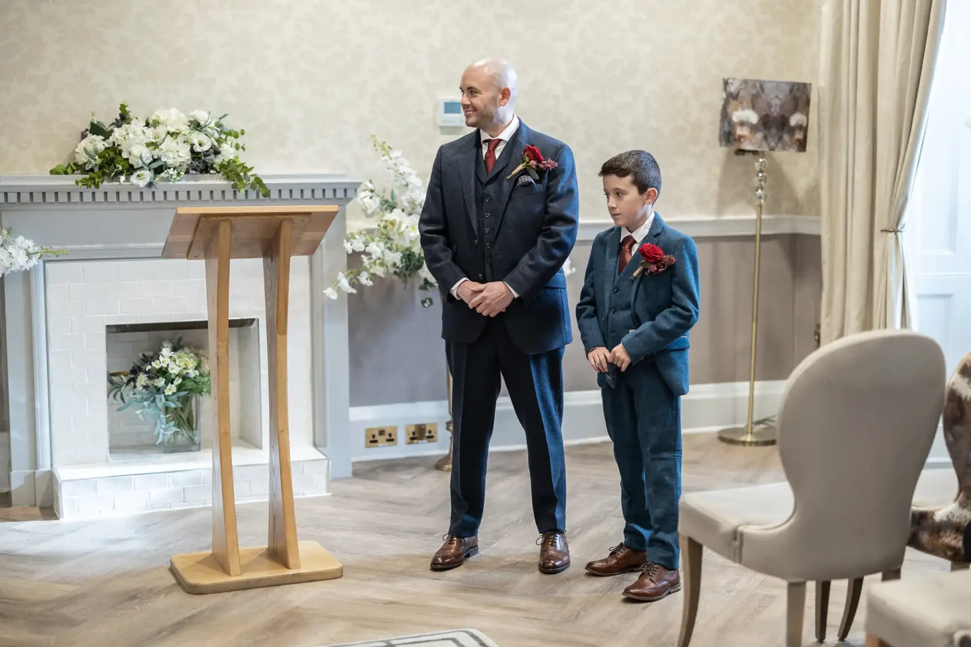
M 106 182 L 97 189 L 75 184 L 80 176 L 0 176 L 0 206 L 19 208 L 68 205 L 107 206 L 126 203 L 186 203 L 267 200 L 350 201 L 357 194 L 358 180 L 339 174 L 268 173 L 260 178 L 270 189 L 264 198 L 256 191 L 236 191 L 218 176 L 186 176 L 178 182 L 158 182 L 139 188 L 130 182 Z M 125 205 L 130 206 L 130 205 Z M 3 209 L 3 207 L 0 207 Z M 9 207 L 8 207 L 9 209 Z

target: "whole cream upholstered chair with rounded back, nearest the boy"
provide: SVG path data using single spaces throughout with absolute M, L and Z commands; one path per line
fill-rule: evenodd
M 944 378 L 937 343 L 887 330 L 834 341 L 792 372 L 777 418 L 787 482 L 681 499 L 679 647 L 694 628 L 702 546 L 788 582 L 788 647 L 802 645 L 807 582 L 899 570 Z

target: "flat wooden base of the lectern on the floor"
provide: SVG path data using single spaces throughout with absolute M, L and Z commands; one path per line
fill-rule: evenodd
M 344 575 L 344 566 L 318 542 L 300 541 L 297 545 L 300 567 L 293 570 L 270 559 L 265 546 L 240 549 L 243 572 L 236 577 L 224 573 L 210 551 L 175 555 L 169 570 L 185 593 L 196 595 L 332 580 Z

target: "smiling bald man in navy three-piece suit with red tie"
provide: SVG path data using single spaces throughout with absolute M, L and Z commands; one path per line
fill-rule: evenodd
M 453 381 L 452 521 L 435 570 L 479 552 L 500 376 L 526 433 L 539 569 L 570 566 L 560 420 L 563 348 L 573 339 L 562 266 L 577 241 L 577 174 L 569 146 L 519 120 L 517 85 L 505 61 L 465 70 L 462 109 L 475 130 L 438 149 L 421 211 Z M 555 164 L 522 168 L 527 146 Z

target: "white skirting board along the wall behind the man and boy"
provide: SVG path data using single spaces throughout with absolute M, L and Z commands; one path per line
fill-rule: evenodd
M 785 386 L 785 380 L 755 382 L 756 419 L 775 415 Z M 682 433 L 716 432 L 724 427 L 744 425 L 748 417 L 748 407 L 748 382 L 695 384 L 682 398 Z M 352 406 L 350 413 L 354 461 L 441 455 L 449 451 L 449 433 L 445 429 L 445 423 L 449 420 L 447 401 Z M 408 435 L 405 427 L 427 423 L 438 424 L 438 441 L 406 444 Z M 385 447 L 365 446 L 366 430 L 375 427 L 395 431 L 397 444 Z M 564 443 L 583 444 L 607 439 L 600 391 L 569 391 L 564 394 Z M 525 447 L 525 437 L 512 402 L 509 398 L 500 398 L 496 404 L 490 451 L 513 451 Z

